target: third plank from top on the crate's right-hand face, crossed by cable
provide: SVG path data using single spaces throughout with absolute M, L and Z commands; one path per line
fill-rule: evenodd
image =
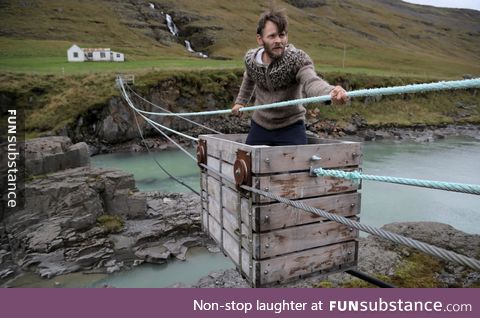
M 360 198 L 360 193 L 347 193 L 304 199 L 299 200 L 299 202 L 336 215 L 353 216 L 360 213 Z M 254 223 L 253 230 L 255 232 L 269 231 L 325 220 L 313 213 L 297 209 L 284 203 L 274 203 L 255 207 L 254 214 L 259 220 L 258 224 Z

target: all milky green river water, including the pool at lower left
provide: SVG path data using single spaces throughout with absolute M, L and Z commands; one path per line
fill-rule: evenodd
M 198 167 L 183 153 L 162 151 L 154 156 L 174 175 L 199 188 Z M 169 180 L 147 153 L 100 155 L 92 158 L 92 164 L 133 173 L 141 191 L 188 191 Z M 432 143 L 367 142 L 364 145 L 363 172 L 479 184 L 480 141 L 459 137 Z M 450 224 L 467 233 L 480 234 L 478 196 L 371 181 L 363 182 L 361 192 L 362 223 L 382 226 L 392 222 L 435 221 Z M 112 275 L 70 274 L 52 280 L 40 280 L 28 275 L 18 279 L 15 285 L 167 287 L 176 282 L 193 284 L 211 271 L 226 268 L 233 268 L 233 264 L 223 254 L 211 254 L 205 249 L 196 248 L 189 252 L 185 262 L 145 264 Z

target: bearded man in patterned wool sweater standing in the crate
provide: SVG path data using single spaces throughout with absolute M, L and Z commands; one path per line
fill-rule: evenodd
M 260 16 L 257 49 L 245 56 L 245 73 L 232 113 L 240 115 L 255 94 L 255 105 L 330 94 L 332 102 L 343 104 L 347 93 L 331 86 L 315 72 L 313 62 L 302 50 L 288 44 L 288 21 L 282 11 L 270 10 Z M 307 143 L 302 105 L 256 110 L 253 113 L 248 145 L 304 145 Z

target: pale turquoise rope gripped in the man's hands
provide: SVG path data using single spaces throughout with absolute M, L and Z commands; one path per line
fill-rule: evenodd
M 477 88 L 477 87 L 480 87 L 480 78 L 460 80 L 460 81 L 446 81 L 446 82 L 437 82 L 437 83 L 361 89 L 361 90 L 347 92 L 347 95 L 349 97 L 386 96 L 386 95 L 395 95 L 395 94 L 430 92 L 430 91 L 439 91 L 439 90 L 447 90 L 447 89 L 467 89 L 467 88 Z M 292 106 L 292 105 L 298 105 L 298 104 L 319 103 L 319 102 L 326 102 L 331 99 L 332 97 L 330 95 L 322 95 L 322 96 L 316 96 L 316 97 L 293 99 L 293 100 L 272 103 L 272 104 L 243 107 L 243 108 L 240 108 L 239 111 L 246 112 L 246 111 L 258 110 L 258 109 L 278 108 L 278 107 L 286 107 L 286 106 Z M 147 112 L 147 111 L 141 111 L 141 112 L 146 115 L 154 115 L 154 116 L 176 116 L 176 114 L 174 115 L 170 113 L 158 113 L 158 112 Z M 222 110 L 179 113 L 179 114 L 181 114 L 182 116 L 205 116 L 205 115 L 229 114 L 231 112 L 232 112 L 231 109 L 222 109 Z

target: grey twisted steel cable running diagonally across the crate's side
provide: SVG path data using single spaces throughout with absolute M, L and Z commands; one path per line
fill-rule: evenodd
M 212 167 L 209 167 L 205 164 L 200 164 L 200 166 L 209 170 L 209 171 L 211 171 L 211 172 L 213 172 L 213 173 L 215 173 L 215 174 L 217 174 L 217 175 L 219 175 L 219 176 L 221 176 L 222 178 L 224 178 L 225 180 L 228 180 L 232 184 L 235 184 L 235 181 L 232 180 L 229 176 L 227 176 L 223 173 L 220 173 L 219 171 L 213 169 Z M 346 217 L 339 216 L 339 215 L 336 215 L 336 214 L 326 212 L 324 210 L 320 210 L 320 209 L 311 207 L 311 206 L 306 205 L 306 204 L 304 204 L 300 201 L 289 200 L 287 198 L 281 197 L 281 196 L 276 195 L 276 194 L 271 193 L 271 192 L 262 191 L 260 189 L 249 187 L 249 186 L 246 186 L 246 185 L 242 185 L 241 188 L 244 189 L 244 190 L 256 193 L 256 194 L 263 195 L 267 198 L 276 200 L 278 202 L 285 203 L 285 204 L 293 206 L 295 208 L 313 213 L 315 215 L 324 217 L 324 218 L 326 218 L 330 221 L 334 221 L 334 222 L 349 226 L 351 228 L 357 229 L 359 231 L 363 231 L 363 232 L 366 232 L 366 233 L 369 233 L 369 234 L 372 234 L 372 235 L 376 235 L 376 236 L 379 236 L 383 239 L 386 239 L 386 240 L 389 240 L 389 241 L 392 241 L 392 242 L 395 242 L 395 243 L 398 243 L 398 244 L 401 244 L 401 245 L 405 245 L 405 246 L 417 249 L 417 250 L 422 251 L 424 253 L 427 253 L 429 255 L 439 257 L 443 260 L 455 262 L 457 264 L 465 265 L 465 266 L 473 268 L 477 271 L 480 271 L 480 261 L 476 260 L 474 258 L 470 258 L 470 257 L 467 257 L 465 255 L 461 255 L 461 254 L 458 254 L 458 253 L 455 253 L 455 252 L 447 251 L 443 248 L 436 247 L 436 246 L 433 246 L 433 245 L 430 245 L 430 244 L 427 244 L 427 243 L 423 243 L 423 242 L 420 242 L 420 241 L 417 241 L 417 240 L 414 240 L 414 239 L 411 239 L 411 238 L 408 238 L 408 237 L 404 237 L 404 236 L 396 234 L 396 233 L 385 231 L 385 230 L 382 230 L 382 229 L 379 229 L 379 228 L 376 228 L 376 227 L 373 227 L 373 226 L 370 226 L 370 225 L 365 225 L 365 224 L 362 224 L 360 222 L 348 219 Z

